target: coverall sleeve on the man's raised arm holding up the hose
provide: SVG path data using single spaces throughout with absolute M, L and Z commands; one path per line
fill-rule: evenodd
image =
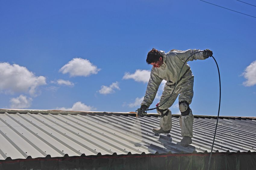
M 186 59 L 187 59 L 191 54 L 193 54 L 193 53 L 195 53 L 195 52 L 198 52 L 198 51 L 202 51 L 202 50 L 200 50 L 200 49 L 189 49 L 189 50 L 186 50 L 186 51 L 180 51 L 178 57 L 179 57 L 183 62 L 185 62 Z M 203 51 L 202 51 L 202 52 L 198 52 L 198 53 L 192 55 L 192 56 L 188 59 L 188 61 L 193 61 L 193 60 L 205 60 L 205 59 L 206 59 L 206 58 L 204 58 L 204 56 L 203 56 Z

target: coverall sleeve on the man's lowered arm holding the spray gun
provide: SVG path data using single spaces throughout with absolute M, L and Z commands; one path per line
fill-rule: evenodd
M 153 100 L 156 97 L 157 90 L 162 80 L 163 80 L 162 78 L 158 77 L 151 70 L 150 79 L 147 84 L 146 94 L 144 96 L 144 100 L 141 103 L 141 105 L 147 105 L 147 107 L 149 107 L 152 104 Z

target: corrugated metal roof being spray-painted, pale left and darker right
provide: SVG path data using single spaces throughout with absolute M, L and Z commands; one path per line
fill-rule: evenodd
M 85 155 L 210 152 L 215 118 L 194 118 L 193 143 L 177 144 L 179 118 L 172 117 L 170 134 L 156 136 L 160 117 L 49 111 L 0 114 L 0 160 Z M 36 112 L 36 111 L 35 111 Z M 60 112 L 59 112 L 60 113 Z M 213 152 L 256 151 L 256 119 L 219 119 Z

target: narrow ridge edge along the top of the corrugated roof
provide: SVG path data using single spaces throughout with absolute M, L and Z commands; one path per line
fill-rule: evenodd
M 8 112 L 8 113 L 43 113 L 43 114 L 122 114 L 122 115 L 134 115 L 135 112 L 96 112 L 96 111 L 73 111 L 73 110 L 37 110 L 37 109 L 0 109 L 0 113 Z M 157 113 L 147 113 L 149 116 L 159 115 Z M 174 117 L 179 117 L 179 114 L 172 114 Z M 194 115 L 195 118 L 217 118 L 214 115 Z M 219 118 L 233 118 L 233 119 L 255 119 L 256 117 L 245 117 L 245 116 L 219 116 Z

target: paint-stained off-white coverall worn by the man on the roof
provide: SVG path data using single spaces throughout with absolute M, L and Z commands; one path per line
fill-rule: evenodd
M 163 102 L 170 96 L 172 93 L 173 88 L 175 87 L 175 83 L 178 79 L 178 75 L 182 65 L 184 64 L 185 60 L 194 52 L 201 51 L 199 49 L 189 49 L 186 51 L 180 50 L 171 50 L 167 53 L 164 51 L 160 51 L 163 56 L 163 64 L 159 68 L 152 67 L 150 79 L 147 85 L 146 94 L 144 96 L 144 100 L 141 105 L 147 105 L 148 107 L 152 104 L 156 92 L 159 88 L 160 83 L 162 80 L 166 80 L 166 84 L 164 87 L 164 91 L 162 93 L 159 105 L 162 105 Z M 203 52 L 198 52 L 191 56 L 188 61 L 193 60 L 204 60 L 206 58 L 203 57 Z M 180 74 L 180 78 L 178 80 L 178 84 L 172 94 L 172 97 L 159 109 L 167 109 L 172 106 L 175 102 L 176 98 L 179 95 L 179 102 L 187 101 L 189 104 L 192 102 L 193 98 L 193 84 L 194 84 L 194 76 L 190 70 L 189 65 L 186 63 L 182 69 Z M 190 109 L 189 115 L 179 117 L 179 123 L 181 127 L 181 135 L 182 136 L 189 136 L 193 137 L 193 120 L 194 116 Z M 164 131 L 169 131 L 172 128 L 172 114 L 169 110 L 168 115 L 163 116 L 160 118 L 160 128 Z

